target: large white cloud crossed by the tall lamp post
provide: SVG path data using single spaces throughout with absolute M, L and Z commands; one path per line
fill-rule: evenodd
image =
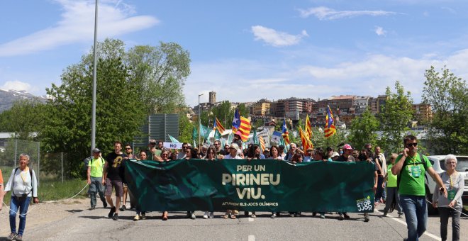
M 39 30 L 0 45 L 1 56 L 28 55 L 61 45 L 94 39 L 94 1 L 56 0 L 62 6 L 62 19 L 55 26 Z M 150 28 L 159 23 L 153 16 L 132 16 L 135 10 L 122 1 L 100 1 L 99 38 L 113 37 Z

